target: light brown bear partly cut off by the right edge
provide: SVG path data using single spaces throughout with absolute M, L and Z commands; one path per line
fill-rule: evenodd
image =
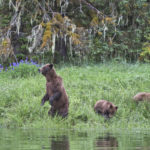
M 144 100 L 150 101 L 150 93 L 140 92 L 133 97 L 133 100 L 136 102 L 144 101 Z

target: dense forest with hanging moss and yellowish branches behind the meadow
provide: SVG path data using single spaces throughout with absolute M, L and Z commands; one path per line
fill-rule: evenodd
M 0 63 L 150 60 L 150 0 L 0 0 Z

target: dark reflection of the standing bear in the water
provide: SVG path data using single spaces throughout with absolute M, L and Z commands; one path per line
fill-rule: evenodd
M 69 150 L 68 136 L 52 137 L 51 150 Z

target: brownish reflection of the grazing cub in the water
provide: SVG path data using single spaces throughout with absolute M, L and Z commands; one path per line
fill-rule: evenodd
M 118 147 L 118 141 L 115 137 L 107 134 L 104 137 L 99 136 L 95 140 L 95 147 L 97 150 L 116 150 Z

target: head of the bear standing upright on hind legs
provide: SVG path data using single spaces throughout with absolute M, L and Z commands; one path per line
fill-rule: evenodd
M 43 67 L 41 67 L 40 69 L 38 69 L 38 71 L 46 77 L 47 81 L 56 77 L 56 72 L 53 67 L 53 64 L 46 64 Z

